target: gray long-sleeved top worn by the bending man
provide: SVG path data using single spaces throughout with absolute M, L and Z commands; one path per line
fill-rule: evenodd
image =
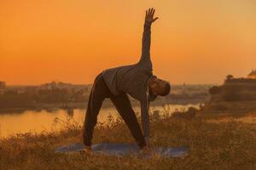
M 125 65 L 103 71 L 103 77 L 110 91 L 115 94 L 126 93 L 140 101 L 143 135 L 149 139 L 149 102 L 157 96 L 149 93 L 148 81 L 155 77 L 150 59 L 151 24 L 145 22 L 143 31 L 142 56 L 137 64 Z

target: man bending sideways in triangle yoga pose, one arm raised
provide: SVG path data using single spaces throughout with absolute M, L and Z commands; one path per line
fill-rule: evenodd
M 102 71 L 93 84 L 90 91 L 88 108 L 84 119 L 84 145 L 85 150 L 90 150 L 93 129 L 97 122 L 97 115 L 102 107 L 104 99 L 109 98 L 113 102 L 131 134 L 136 139 L 141 149 L 149 149 L 149 102 L 158 95 L 165 96 L 170 93 L 171 86 L 168 82 L 155 77 L 152 73 L 150 59 L 150 34 L 151 25 L 158 18 L 154 18 L 154 8 L 146 11 L 142 55 L 134 65 L 125 65 Z M 137 122 L 135 112 L 132 110 L 128 98 L 140 101 L 142 127 Z

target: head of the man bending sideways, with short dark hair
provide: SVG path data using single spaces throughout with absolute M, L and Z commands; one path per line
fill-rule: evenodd
M 169 82 L 161 80 L 160 78 L 152 78 L 149 80 L 149 90 L 154 95 L 166 96 L 170 94 L 171 85 Z

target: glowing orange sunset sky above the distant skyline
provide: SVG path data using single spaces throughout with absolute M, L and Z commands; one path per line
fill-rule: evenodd
M 221 83 L 256 69 L 253 0 L 3 0 L 0 81 L 90 83 L 136 63 L 146 8 L 154 74 L 171 83 Z

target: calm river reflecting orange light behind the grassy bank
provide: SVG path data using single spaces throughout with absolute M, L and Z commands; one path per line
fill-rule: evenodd
M 175 110 L 186 110 L 189 106 L 196 108 L 199 105 L 169 105 L 169 112 Z M 140 107 L 133 107 L 135 112 L 140 111 Z M 149 111 L 164 111 L 163 106 L 150 106 Z M 67 121 L 73 117 L 75 122 L 83 125 L 85 110 L 74 109 L 72 113 L 65 110 L 56 111 L 24 111 L 22 113 L 3 113 L 0 114 L 0 138 L 8 137 L 15 133 L 42 133 L 50 132 L 61 128 L 62 121 Z M 100 111 L 98 122 L 106 122 L 108 116 L 117 117 L 118 112 L 113 108 L 104 108 Z M 57 123 L 56 123 L 57 122 Z

